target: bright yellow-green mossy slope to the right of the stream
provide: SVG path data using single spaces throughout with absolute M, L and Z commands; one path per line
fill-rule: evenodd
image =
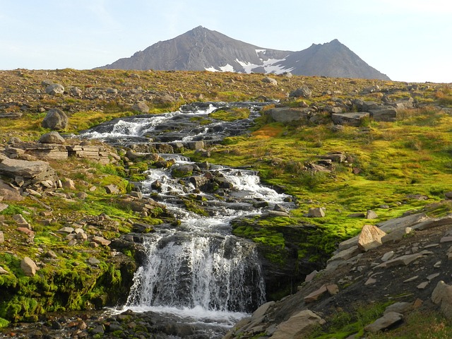
M 297 198 L 292 218 L 254 220 L 252 226 L 242 223 L 234 234 L 275 244 L 278 253 L 285 239 L 275 227 L 313 225 L 297 245 L 300 258 L 318 262 L 331 254 L 337 242 L 357 234 L 364 223 L 420 210 L 452 190 L 451 124 L 451 115 L 432 107 L 415 109 L 400 121 L 372 121 L 368 128 L 345 126 L 339 132 L 328 125 L 283 125 L 263 117 L 251 136 L 227 138 L 224 149 L 213 153 L 210 161 L 250 166 L 267 184 Z M 344 153 L 347 162 L 333 165 L 330 173 L 305 168 L 319 155 L 335 151 Z M 410 198 L 414 194 L 428 199 Z M 326 208 L 326 217 L 306 218 L 312 207 Z M 347 217 L 367 210 L 374 210 L 379 218 Z

